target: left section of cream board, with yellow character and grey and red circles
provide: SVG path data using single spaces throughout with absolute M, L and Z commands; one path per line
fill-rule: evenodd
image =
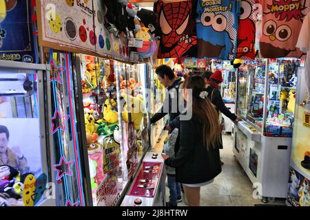
M 95 51 L 92 1 L 43 0 L 40 3 L 43 41 Z

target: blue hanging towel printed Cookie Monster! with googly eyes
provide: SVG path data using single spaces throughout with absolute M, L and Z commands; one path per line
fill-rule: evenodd
M 197 13 L 198 57 L 234 59 L 240 2 L 199 0 Z

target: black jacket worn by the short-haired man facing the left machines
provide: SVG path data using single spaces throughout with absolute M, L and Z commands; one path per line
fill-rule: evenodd
M 167 115 L 167 113 L 169 113 L 169 126 L 172 128 L 172 130 L 174 130 L 177 126 L 178 126 L 178 120 L 176 119 L 178 117 L 178 115 L 180 115 L 180 109 L 178 108 L 178 88 L 180 87 L 180 84 L 183 83 L 182 82 L 182 78 L 176 78 L 176 80 L 174 80 L 174 83 L 167 87 L 167 95 L 164 101 L 164 105 L 163 107 L 161 107 L 161 110 L 159 110 L 152 118 L 151 118 L 151 124 L 154 124 L 155 122 L 157 122 L 158 120 L 161 120 L 161 118 L 165 117 L 165 115 Z M 172 97 L 171 93 L 174 93 L 176 97 Z M 175 101 L 176 98 L 176 102 L 172 102 L 172 99 L 174 99 Z M 164 112 L 165 109 L 165 105 L 167 105 L 167 102 L 169 103 L 169 110 L 168 112 Z M 176 103 L 177 106 L 176 108 L 172 108 L 172 103 Z M 167 107 L 166 107 L 167 108 Z

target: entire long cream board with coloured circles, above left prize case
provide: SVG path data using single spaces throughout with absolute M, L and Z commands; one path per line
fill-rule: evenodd
M 96 56 L 130 60 L 128 41 L 107 31 L 103 1 L 43 0 L 41 5 L 40 43 L 47 47 Z M 38 16 L 39 17 L 39 16 Z M 40 27 L 41 25 L 41 27 Z M 61 46 L 60 46 L 61 45 Z M 72 49 L 73 48 L 73 49 Z

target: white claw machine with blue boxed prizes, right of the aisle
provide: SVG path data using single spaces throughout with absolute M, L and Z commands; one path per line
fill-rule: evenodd
M 238 71 L 234 154 L 263 202 L 287 197 L 296 59 L 247 61 Z M 286 94 L 286 95 L 284 95 Z

